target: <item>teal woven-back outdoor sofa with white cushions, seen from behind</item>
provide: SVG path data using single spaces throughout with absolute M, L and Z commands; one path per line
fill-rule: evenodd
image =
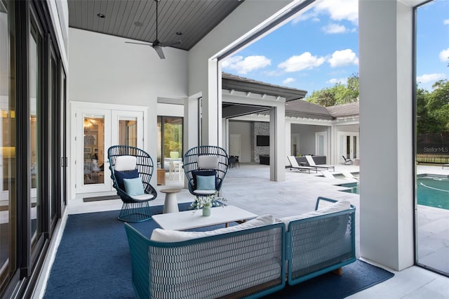
M 319 208 L 321 201 L 330 206 Z M 319 197 L 316 211 L 307 214 L 262 215 L 210 232 L 155 229 L 150 239 L 125 223 L 135 293 L 138 298 L 260 298 L 283 288 L 286 277 L 297 284 L 352 263 L 355 208 L 348 205 Z

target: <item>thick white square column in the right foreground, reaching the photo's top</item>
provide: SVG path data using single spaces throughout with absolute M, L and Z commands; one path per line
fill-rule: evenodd
M 361 256 L 413 265 L 413 9 L 358 1 Z

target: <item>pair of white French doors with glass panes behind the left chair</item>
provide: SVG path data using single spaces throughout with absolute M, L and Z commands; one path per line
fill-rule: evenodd
M 112 145 L 143 148 L 144 112 L 79 106 L 74 107 L 76 193 L 110 192 L 107 150 Z

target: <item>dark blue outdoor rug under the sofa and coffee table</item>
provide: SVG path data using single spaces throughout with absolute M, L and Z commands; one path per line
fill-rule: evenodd
M 180 204 L 180 211 L 189 204 Z M 162 213 L 162 206 L 152 208 Z M 69 215 L 43 298 L 135 298 L 128 239 L 119 211 Z M 153 220 L 132 224 L 149 237 Z M 208 227 L 210 230 L 224 225 Z M 361 260 L 343 267 L 342 276 L 323 274 L 266 298 L 345 298 L 394 274 Z

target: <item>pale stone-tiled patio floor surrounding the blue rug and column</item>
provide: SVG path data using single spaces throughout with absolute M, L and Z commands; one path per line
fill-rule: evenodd
M 240 164 L 238 168 L 229 168 L 222 186 L 222 196 L 227 199 L 229 205 L 239 206 L 259 215 L 270 213 L 275 217 L 311 211 L 319 196 L 348 200 L 357 208 L 356 252 L 359 257 L 359 196 L 342 192 L 344 187 L 337 186 L 346 182 L 356 182 L 354 179 L 344 179 L 341 175 L 337 175 L 338 173 L 341 171 L 358 173 L 358 170 L 358 166 L 339 165 L 335 167 L 335 172 L 331 172 L 339 178 L 329 179 L 320 176 L 320 172 L 309 174 L 286 169 L 285 181 L 272 182 L 269 180 L 269 166 Z M 417 172 L 449 175 L 449 170 L 447 168 L 443 170 L 441 166 L 418 166 Z M 182 181 L 168 180 L 168 173 L 166 178 L 166 185 L 156 187 L 158 191 L 171 187 L 182 188 L 177 194 L 178 202 L 192 201 L 193 197 L 183 187 Z M 165 194 L 158 193 L 152 205 L 163 204 Z M 82 197 L 77 197 L 69 201 L 68 213 L 111 211 L 120 208 L 120 199 L 84 203 Z M 431 267 L 443 267 L 449 272 L 449 211 L 418 206 L 417 226 L 420 262 Z M 373 263 L 370 260 L 366 261 Z M 394 272 L 395 276 L 349 298 L 449 298 L 448 277 L 417 266 L 401 272 L 385 269 Z

